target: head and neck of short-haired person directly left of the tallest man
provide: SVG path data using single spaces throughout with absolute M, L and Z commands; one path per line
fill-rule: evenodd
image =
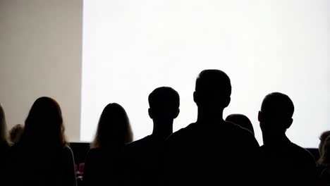
M 158 87 L 149 94 L 149 116 L 154 121 L 154 131 L 163 135 L 173 132 L 173 120 L 180 112 L 180 97 L 171 87 Z

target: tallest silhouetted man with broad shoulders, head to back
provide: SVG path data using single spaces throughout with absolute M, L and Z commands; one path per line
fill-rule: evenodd
M 221 70 L 203 70 L 194 101 L 197 121 L 166 140 L 165 185 L 257 185 L 259 144 L 251 132 L 223 119 L 231 80 Z

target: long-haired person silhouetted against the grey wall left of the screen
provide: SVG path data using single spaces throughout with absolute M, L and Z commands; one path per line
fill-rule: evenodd
M 73 152 L 54 99 L 40 97 L 32 105 L 20 142 L 11 148 L 8 175 L 11 185 L 76 185 Z

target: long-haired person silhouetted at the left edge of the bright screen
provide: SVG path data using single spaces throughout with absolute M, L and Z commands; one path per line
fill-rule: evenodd
M 108 104 L 99 118 L 97 132 L 85 160 L 83 184 L 121 185 L 123 147 L 132 142 L 125 109 L 119 104 Z

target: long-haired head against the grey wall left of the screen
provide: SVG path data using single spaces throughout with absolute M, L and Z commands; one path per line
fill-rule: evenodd
M 62 112 L 59 104 L 50 97 L 40 97 L 32 105 L 25 120 L 20 142 L 28 145 L 47 144 L 48 147 L 66 145 Z

